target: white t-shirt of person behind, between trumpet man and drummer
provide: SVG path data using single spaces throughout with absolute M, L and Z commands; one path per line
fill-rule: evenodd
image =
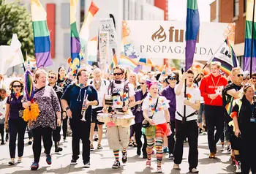
M 104 94 L 105 95 L 108 95 L 108 86 L 109 86 L 109 81 L 108 80 L 105 80 L 105 79 L 101 79 L 102 82 L 101 82 L 101 86 L 99 88 L 99 91 L 97 91 L 97 94 L 98 94 L 98 99 L 99 99 L 99 105 L 97 106 L 92 106 L 93 109 L 97 108 L 97 107 L 102 107 L 103 104 L 103 98 L 104 98 Z M 97 81 L 97 83 L 99 83 Z M 88 84 L 91 85 L 91 86 L 94 86 L 94 79 L 90 79 L 88 80 Z M 95 88 L 95 86 L 94 86 Z

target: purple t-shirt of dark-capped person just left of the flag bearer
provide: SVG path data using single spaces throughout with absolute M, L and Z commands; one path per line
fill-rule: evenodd
M 167 100 L 169 100 L 169 113 L 170 113 L 170 120 L 175 120 L 175 112 L 176 112 L 176 94 L 174 88 L 167 86 L 162 90 L 162 96 L 164 96 Z

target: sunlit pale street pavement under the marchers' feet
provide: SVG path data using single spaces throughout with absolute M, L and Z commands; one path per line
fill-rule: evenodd
M 26 134 L 27 135 L 27 134 Z M 10 160 L 8 143 L 0 145 L 0 174 L 30 174 L 30 173 L 156 173 L 157 159 L 154 155 L 151 162 L 151 168 L 146 168 L 146 159 L 142 159 L 142 156 L 137 156 L 136 148 L 128 148 L 128 161 L 126 164 L 121 163 L 119 169 L 112 169 L 114 157 L 112 151 L 108 148 L 108 140 L 105 135 L 103 136 L 102 146 L 103 150 L 94 150 L 91 152 L 91 167 L 89 169 L 83 168 L 82 156 L 78 159 L 78 164 L 70 165 L 72 156 L 71 142 L 72 138 L 67 137 L 67 142 L 61 141 L 61 147 L 64 148 L 61 153 L 54 153 L 54 146 L 51 150 L 53 162 L 48 165 L 45 162 L 44 149 L 42 148 L 42 154 L 39 162 L 39 170 L 31 171 L 30 165 L 33 162 L 32 145 L 28 145 L 28 138 L 25 138 L 25 149 L 23 155 L 23 162 L 18 164 L 18 157 L 15 159 L 15 165 L 9 166 Z M 80 144 L 80 148 L 81 148 Z M 97 142 L 94 141 L 94 148 L 97 146 Z M 220 145 L 218 145 L 220 149 Z M 188 164 L 188 143 L 184 143 L 183 161 L 180 165 L 181 170 L 173 170 L 173 160 L 167 159 L 167 154 L 164 155 L 162 160 L 163 173 L 189 173 Z M 217 174 L 217 173 L 234 173 L 235 167 L 230 164 L 230 155 L 217 152 L 217 159 L 208 159 L 208 143 L 207 135 L 199 135 L 198 143 L 199 161 L 197 169 L 203 174 Z M 17 154 L 17 151 L 16 151 Z

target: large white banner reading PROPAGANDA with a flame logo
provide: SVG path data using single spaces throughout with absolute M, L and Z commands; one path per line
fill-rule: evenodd
M 194 60 L 208 61 L 225 40 L 229 27 L 230 23 L 200 23 Z M 124 20 L 122 30 L 125 52 L 134 50 L 133 54 L 143 58 L 185 58 L 185 22 Z

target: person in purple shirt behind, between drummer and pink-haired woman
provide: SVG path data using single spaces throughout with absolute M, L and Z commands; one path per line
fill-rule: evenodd
M 141 109 L 141 106 L 143 104 L 143 99 L 145 99 L 148 95 L 147 90 L 147 84 L 146 84 L 146 77 L 142 77 L 140 79 L 140 89 L 135 91 L 135 102 L 136 105 L 132 109 L 132 113 L 135 116 L 135 124 L 132 125 L 132 128 L 135 132 L 135 140 L 137 142 L 137 154 L 140 156 L 141 154 L 141 148 L 143 151 L 143 159 L 147 158 L 146 154 L 146 135 L 142 134 L 142 121 L 143 121 L 143 110 Z M 144 138 L 144 144 L 142 145 L 141 142 L 141 135 L 143 135 Z

